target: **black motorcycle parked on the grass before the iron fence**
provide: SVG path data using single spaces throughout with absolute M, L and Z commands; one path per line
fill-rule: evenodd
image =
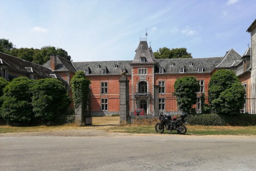
M 184 124 L 186 123 L 185 117 L 188 115 L 181 114 L 180 118 L 177 119 L 176 116 L 172 117 L 170 115 L 162 115 L 162 113 L 159 116 L 160 123 L 156 124 L 156 132 L 163 133 L 164 129 L 167 129 L 169 131 L 176 130 L 179 134 L 185 134 L 186 133 L 186 126 Z

